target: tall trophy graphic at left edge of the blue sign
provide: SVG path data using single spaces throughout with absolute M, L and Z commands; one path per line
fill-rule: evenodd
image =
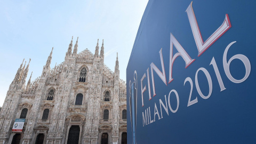
M 137 123 L 137 72 L 134 71 L 134 82 L 129 83 L 130 94 L 130 116 L 132 123 L 132 143 L 136 144 L 136 123 Z

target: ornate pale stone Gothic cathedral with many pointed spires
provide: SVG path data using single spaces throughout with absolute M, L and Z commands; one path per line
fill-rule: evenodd
M 65 60 L 54 68 L 52 48 L 42 75 L 27 83 L 30 59 L 27 65 L 23 60 L 0 113 L 0 143 L 127 143 L 126 83 L 119 78 L 118 55 L 113 72 L 104 64 L 103 41 L 99 53 L 98 39 L 94 54 L 77 53 L 77 43 L 78 37 L 73 50 L 72 37 Z M 23 121 L 20 131 L 14 129 L 17 119 Z

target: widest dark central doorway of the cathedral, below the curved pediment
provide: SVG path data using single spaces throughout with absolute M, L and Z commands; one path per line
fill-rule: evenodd
M 79 125 L 72 125 L 69 129 L 67 144 L 78 144 L 79 134 L 80 134 Z

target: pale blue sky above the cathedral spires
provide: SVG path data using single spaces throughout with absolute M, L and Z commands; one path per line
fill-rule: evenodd
M 51 68 L 64 61 L 72 36 L 77 53 L 93 54 L 104 39 L 105 64 L 114 71 L 118 52 L 120 78 L 126 67 L 148 0 L 0 1 L 0 106 L 25 58 L 31 80 L 41 76 L 53 49 Z M 75 45 L 73 41 L 73 49 Z M 27 83 L 26 81 L 26 83 Z

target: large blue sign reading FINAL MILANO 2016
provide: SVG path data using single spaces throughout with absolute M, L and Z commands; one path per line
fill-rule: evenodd
M 256 141 L 255 5 L 149 0 L 126 69 L 127 143 Z

